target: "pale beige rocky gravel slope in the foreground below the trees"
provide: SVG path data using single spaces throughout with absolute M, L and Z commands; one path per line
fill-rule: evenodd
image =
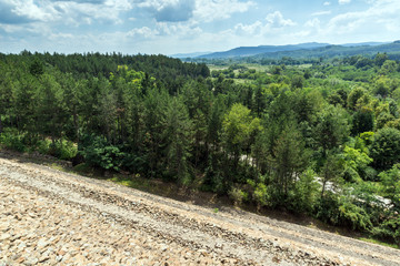
M 0 265 L 400 265 L 400 250 L 0 153 Z

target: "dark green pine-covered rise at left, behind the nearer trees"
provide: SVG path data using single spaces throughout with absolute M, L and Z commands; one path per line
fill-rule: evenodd
M 166 55 L 126 55 L 121 53 L 30 53 L 22 51 L 20 54 L 1 54 L 0 59 L 8 62 L 38 61 L 42 64 L 57 66 L 63 73 L 72 73 L 74 76 L 106 76 L 116 72 L 118 65 L 129 65 L 132 70 L 142 71 L 160 80 L 177 78 L 207 78 L 210 71 L 206 64 L 183 63 L 179 59 Z

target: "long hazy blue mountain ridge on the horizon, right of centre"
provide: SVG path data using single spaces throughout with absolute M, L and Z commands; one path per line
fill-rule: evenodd
M 217 59 L 217 58 L 252 57 L 260 53 L 294 51 L 300 49 L 314 49 L 326 45 L 329 45 L 329 43 L 308 42 L 308 43 L 288 44 L 288 45 L 240 47 L 226 52 L 213 52 L 209 54 L 199 55 L 198 58 Z

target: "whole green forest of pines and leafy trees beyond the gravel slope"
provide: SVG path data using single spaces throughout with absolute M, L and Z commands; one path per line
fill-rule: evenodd
M 0 54 L 0 145 L 400 245 L 399 61 L 209 66 L 164 55 Z

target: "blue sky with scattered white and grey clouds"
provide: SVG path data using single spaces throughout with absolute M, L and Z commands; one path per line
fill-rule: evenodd
M 0 52 L 176 54 L 400 39 L 400 0 L 0 0 Z

